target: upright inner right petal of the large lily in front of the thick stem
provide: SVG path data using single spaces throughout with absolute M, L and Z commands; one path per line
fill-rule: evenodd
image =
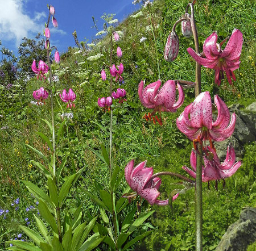
M 226 128 L 229 124 L 229 119 L 230 119 L 229 108 L 222 101 L 222 99 L 218 97 L 218 95 L 215 95 L 214 103 L 217 106 L 218 116 L 215 122 L 212 123 L 212 127 L 216 127 L 219 129 Z

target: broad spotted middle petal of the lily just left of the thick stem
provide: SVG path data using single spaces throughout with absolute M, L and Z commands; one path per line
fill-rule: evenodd
M 154 102 L 156 106 L 163 105 L 166 108 L 172 108 L 175 102 L 176 85 L 173 80 L 168 80 L 162 88 L 159 90 L 158 94 L 154 97 Z

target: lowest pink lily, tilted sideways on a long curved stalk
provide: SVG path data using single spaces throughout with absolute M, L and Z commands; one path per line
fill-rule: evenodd
M 134 160 L 131 160 L 125 168 L 125 178 L 128 185 L 133 189 L 135 193 L 129 194 L 127 197 L 130 201 L 131 198 L 139 195 L 142 198 L 146 199 L 151 205 L 156 204 L 159 206 L 168 205 L 168 199 L 158 200 L 160 192 L 158 191 L 161 185 L 161 179 L 156 177 L 151 179 L 153 175 L 153 168 L 146 168 L 147 161 L 143 161 L 134 168 Z M 179 196 L 176 194 L 173 196 L 172 200 L 175 200 Z

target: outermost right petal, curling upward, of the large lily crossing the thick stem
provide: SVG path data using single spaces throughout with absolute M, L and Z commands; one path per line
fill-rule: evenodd
M 234 132 L 234 128 L 236 127 L 236 114 L 232 114 L 232 119 L 229 126 L 225 129 L 219 129 L 216 127 L 212 127 L 209 130 L 209 135 L 214 141 L 223 141 L 228 139 Z

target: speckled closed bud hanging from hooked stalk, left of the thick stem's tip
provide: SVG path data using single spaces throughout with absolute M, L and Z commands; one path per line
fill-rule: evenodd
M 170 32 L 166 47 L 164 48 L 164 59 L 168 62 L 174 61 L 179 52 L 179 37 L 175 31 Z

